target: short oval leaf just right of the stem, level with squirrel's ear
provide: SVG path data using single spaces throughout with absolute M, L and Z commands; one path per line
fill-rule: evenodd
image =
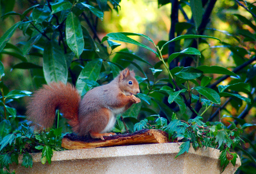
M 185 67 L 180 72 L 175 73 L 175 75 L 182 79 L 195 79 L 201 77 L 203 72 L 201 70 L 197 70 L 194 67 Z

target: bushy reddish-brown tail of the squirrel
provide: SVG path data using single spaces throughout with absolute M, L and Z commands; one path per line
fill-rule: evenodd
M 71 84 L 53 82 L 43 85 L 43 88 L 34 93 L 27 106 L 28 119 L 43 128 L 54 124 L 55 111 L 59 109 L 68 119 L 74 132 L 78 132 L 78 108 L 81 97 Z

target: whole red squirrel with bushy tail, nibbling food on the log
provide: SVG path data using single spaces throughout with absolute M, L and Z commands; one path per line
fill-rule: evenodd
M 109 84 L 97 86 L 81 97 L 71 84 L 52 82 L 34 93 L 27 106 L 27 116 L 43 128 L 54 124 L 55 111 L 59 109 L 68 119 L 73 132 L 79 136 L 90 135 L 94 139 L 112 136 L 116 115 L 123 113 L 141 100 L 139 84 L 134 71 L 125 68 Z

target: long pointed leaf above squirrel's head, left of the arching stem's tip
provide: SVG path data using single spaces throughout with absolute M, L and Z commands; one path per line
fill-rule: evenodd
M 124 33 L 124 32 L 108 33 L 107 36 L 102 39 L 101 43 L 104 41 L 107 41 L 107 39 L 114 40 L 114 41 L 127 42 L 129 44 L 134 44 L 134 45 L 141 46 L 142 48 L 146 48 L 146 49 L 150 50 L 151 52 L 155 53 L 157 56 L 159 56 L 158 53 L 155 52 L 155 50 L 153 50 L 152 48 L 149 48 L 148 46 L 141 44 L 140 42 L 135 41 L 132 38 L 127 37 L 125 34 L 127 34 L 127 33 Z M 131 33 L 129 33 L 129 34 L 131 35 Z M 134 35 L 139 35 L 139 34 L 134 33 Z

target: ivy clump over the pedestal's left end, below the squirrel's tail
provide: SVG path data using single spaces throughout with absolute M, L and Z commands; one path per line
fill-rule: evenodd
M 62 128 L 51 129 L 50 132 L 33 133 L 26 124 L 21 125 L 20 131 L 15 131 L 3 137 L 0 142 L 1 173 L 10 171 L 9 165 L 18 164 L 19 154 L 23 154 L 22 166 L 33 166 L 33 159 L 29 153 L 43 151 L 41 162 L 51 164 L 52 151 L 59 151 L 62 140 Z

